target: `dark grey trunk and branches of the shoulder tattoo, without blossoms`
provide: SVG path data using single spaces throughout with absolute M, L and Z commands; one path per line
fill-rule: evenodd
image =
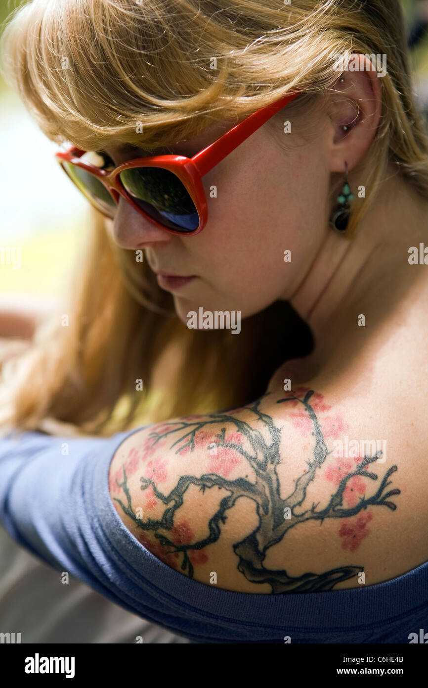
M 302 409 L 304 409 L 304 412 L 311 420 L 311 427 L 313 428 L 311 434 L 314 436 L 315 442 L 313 457 L 307 462 L 307 469 L 295 479 L 293 491 L 284 499 L 280 497 L 280 481 L 277 473 L 278 465 L 281 462 L 280 429 L 276 427 L 271 416 L 260 410 L 260 401 L 264 397 L 261 397 L 246 408 L 254 413 L 255 418 L 263 424 L 269 440 L 266 440 L 258 429 L 251 427 L 247 422 L 228 413 L 216 413 L 212 416 L 205 416 L 203 420 L 195 420 L 194 422 L 188 419 L 180 422 L 167 422 L 164 432 L 153 432 L 149 436 L 153 440 L 154 446 L 161 438 L 179 433 L 179 438 L 170 445 L 170 449 L 179 445 L 176 450 L 176 453 L 179 454 L 183 450 L 185 452 L 194 451 L 195 438 L 201 429 L 206 429 L 210 424 L 232 424 L 236 432 L 240 433 L 240 436 L 247 440 L 247 445 L 251 447 L 251 451 L 246 451 L 240 441 L 228 442 L 225 427 L 221 429 L 221 433 L 215 436 L 216 447 L 233 450 L 243 457 L 256 475 L 255 482 L 250 482 L 244 477 L 239 477 L 236 480 L 227 480 L 227 477 L 217 475 L 216 473 L 205 473 L 200 477 L 183 475 L 179 478 L 177 485 L 168 494 L 164 494 L 159 490 L 155 480 L 150 477 L 142 477 L 141 489 L 145 491 L 151 486 L 156 499 L 166 506 L 161 519 L 148 518 L 144 521 L 138 518 L 133 511 L 125 466 L 123 465 L 123 480 L 119 482 L 116 478 L 116 483 L 123 488 L 127 504 L 124 504 L 121 499 L 116 497 L 114 497 L 115 501 L 120 504 L 124 513 L 133 519 L 138 528 L 144 531 L 151 531 L 161 546 L 170 548 L 168 552 L 175 552 L 176 557 L 181 557 L 181 570 L 187 573 L 188 576 L 192 577 L 194 573 L 189 556 L 190 551 L 202 550 L 219 539 L 221 527 L 227 519 L 227 511 L 233 508 L 240 497 L 247 497 L 255 502 L 256 514 L 258 516 L 256 528 L 233 546 L 236 557 L 238 557 L 238 570 L 248 581 L 252 583 L 269 583 L 271 585 L 271 592 L 276 594 L 285 592 L 320 592 L 331 590 L 340 581 L 346 581 L 355 577 L 363 570 L 362 566 L 341 566 L 322 574 L 308 572 L 301 576 L 293 577 L 285 569 L 274 570 L 265 568 L 263 565 L 267 550 L 280 542 L 286 533 L 298 524 L 311 520 L 317 520 L 322 524 L 324 519 L 352 517 L 360 514 L 368 506 L 383 505 L 391 510 L 395 510 L 396 504 L 390 501 L 390 497 L 400 494 L 398 489 L 387 491 L 387 486 L 391 484 L 389 478 L 397 470 L 397 466 L 394 465 L 385 472 L 377 490 L 372 496 L 365 496 L 365 487 L 363 486 L 364 494 L 357 499 L 357 503 L 352 506 L 344 506 L 343 495 L 347 486 L 349 488 L 351 480 L 357 476 L 368 478 L 372 481 L 378 480 L 376 473 L 367 470 L 370 464 L 381 457 L 382 452 L 377 451 L 374 456 L 365 455 L 364 458 L 357 458 L 354 470 L 336 481 L 335 492 L 330 496 L 330 500 L 324 508 L 318 508 L 319 504 L 311 504 L 310 508 L 302 510 L 308 486 L 315 480 L 317 471 L 326 462 L 328 454 L 331 452 L 328 452 L 313 405 L 310 403 L 314 391 L 308 390 L 306 393 L 300 394 L 300 396 L 295 396 L 296 393 L 289 394 L 290 396 L 278 400 L 277 403 L 298 402 L 298 404 L 302 405 Z M 188 418 L 192 417 L 189 416 Z M 188 449 L 185 449 L 186 447 Z M 210 518 L 207 537 L 196 542 L 185 543 L 179 541 L 177 543 L 177 538 L 174 538 L 174 541 L 166 533 L 173 531 L 174 515 L 183 504 L 185 493 L 191 485 L 199 486 L 202 493 L 214 487 L 222 488 L 227 491 L 227 495 L 221 499 L 216 513 Z M 284 517 L 286 512 L 287 517 Z M 351 537 L 355 536 L 351 535 Z

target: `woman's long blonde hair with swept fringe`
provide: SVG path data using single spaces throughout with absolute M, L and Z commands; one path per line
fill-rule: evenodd
M 428 140 L 398 0 L 234 0 L 225 7 L 213 0 L 33 0 L 12 14 L 1 39 L 5 79 L 46 136 L 91 151 L 114 141 L 150 153 L 295 90 L 304 94 L 287 106 L 286 119 L 296 117 L 298 126 L 337 82 L 337 56 L 352 52 L 386 54 L 387 74 L 381 124 L 361 163 L 368 194 L 353 204 L 350 237 L 388 164 L 428 197 Z M 284 111 L 269 126 L 282 118 Z M 146 264 L 113 245 L 95 211 L 91 232 L 69 327 L 58 319 L 45 325 L 29 352 L 3 366 L 1 420 L 12 427 L 109 434 L 240 405 L 263 393 L 284 359 L 302 355 L 298 347 L 310 346 L 303 323 L 280 302 L 246 319 L 240 337 L 188 330 L 170 294 Z M 287 328 L 297 325 L 301 341 L 287 350 Z M 175 363 L 163 385 L 156 376 L 167 361 Z

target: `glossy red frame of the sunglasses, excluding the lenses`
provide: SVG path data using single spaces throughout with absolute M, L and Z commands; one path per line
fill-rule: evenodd
M 210 172 L 221 160 L 224 160 L 229 153 L 232 153 L 241 143 L 243 143 L 252 133 L 257 131 L 262 125 L 264 125 L 267 120 L 269 120 L 273 115 L 275 115 L 282 107 L 291 103 L 300 92 L 295 92 L 293 94 L 287 94 L 275 103 L 271 103 L 266 107 L 253 112 L 251 115 L 246 117 L 242 122 L 223 133 L 218 139 L 210 143 L 203 150 L 193 155 L 192 158 L 187 158 L 185 155 L 152 155 L 149 158 L 135 158 L 134 160 L 128 160 L 121 165 L 115 167 L 111 171 L 106 171 L 104 169 L 98 168 L 95 165 L 91 165 L 87 162 L 82 162 L 80 158 L 82 155 L 88 151 L 83 151 L 82 149 L 71 147 L 67 151 L 60 151 L 55 153 L 55 157 L 60 163 L 61 168 L 67 174 L 67 177 L 71 179 L 69 173 L 63 166 L 63 161 L 74 164 L 87 172 L 93 174 L 104 186 L 107 191 L 113 197 L 116 204 L 119 203 L 120 196 L 122 196 L 128 203 L 133 206 L 133 208 L 146 217 L 150 222 L 155 224 L 157 227 L 168 231 L 171 234 L 179 235 L 181 237 L 194 236 L 199 234 L 208 219 L 208 206 L 207 197 L 205 195 L 205 189 L 203 188 L 202 178 Z M 124 170 L 133 169 L 135 167 L 161 167 L 176 175 L 179 180 L 185 186 L 186 191 L 192 198 L 194 206 L 199 216 L 199 226 L 190 231 L 185 230 L 174 230 L 170 227 L 157 222 L 153 217 L 150 217 L 142 208 L 137 206 L 133 201 L 132 197 L 128 194 L 122 182 L 120 181 L 120 173 Z M 74 180 L 71 179 L 72 182 Z M 76 182 L 74 182 L 76 186 Z M 79 187 L 78 187 L 79 188 Z M 80 189 L 82 191 L 82 189 Z M 110 219 L 114 218 L 108 213 L 104 212 L 101 208 L 95 205 L 95 202 L 88 197 L 84 191 L 82 193 L 85 195 L 87 200 L 95 207 L 100 213 L 106 215 Z

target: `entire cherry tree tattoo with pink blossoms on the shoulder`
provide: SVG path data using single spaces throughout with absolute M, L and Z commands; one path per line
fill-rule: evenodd
M 167 422 L 158 427 L 157 431 L 150 433 L 151 444 L 148 449 L 146 448 L 146 458 L 150 457 L 150 452 L 153 452 L 159 443 L 165 444 L 166 438 L 169 443 L 172 436 L 177 436 L 177 434 L 178 439 L 170 444 L 170 449 L 177 447 L 175 452 L 177 455 L 185 455 L 200 447 L 211 447 L 215 450 L 210 459 L 210 473 L 204 473 L 199 477 L 181 475 L 168 494 L 164 494 L 159 489 L 159 483 L 166 479 L 166 463 L 161 460 L 149 462 L 146 475 L 141 477 L 141 489 L 146 492 L 149 504 L 151 500 L 153 505 L 159 502 L 165 505 L 166 508 L 160 519 L 149 517 L 143 520 L 134 513 L 126 471 L 128 473 L 135 471 L 141 458 L 135 449 L 132 450 L 133 456 L 130 460 L 122 466 L 122 481 L 118 480 L 117 475 L 115 476 L 116 490 L 123 489 L 127 504 L 117 497 L 113 499 L 143 531 L 142 537 L 139 538 L 142 543 L 148 544 L 144 532 L 151 531 L 159 545 L 156 551 L 153 549 L 153 544 L 151 546 L 148 544 L 148 548 L 174 568 L 181 563 L 181 570 L 190 577 L 193 577 L 194 564 L 207 561 L 205 548 L 221 537 L 221 528 L 226 522 L 227 511 L 234 507 L 240 497 L 252 499 L 256 504 L 258 525 L 249 535 L 233 546 L 238 557 L 238 570 L 252 583 L 269 583 L 271 592 L 275 594 L 331 590 L 340 581 L 357 576 L 363 567 L 341 566 L 322 574 L 307 572 L 293 577 L 285 569 L 275 570 L 263 566 L 267 550 L 282 541 L 286 533 L 298 524 L 313 520 L 322 524 L 324 519 L 341 519 L 339 536 L 342 538 L 342 546 L 353 552 L 369 532 L 367 524 L 372 518 L 372 513 L 368 511 L 368 506 L 386 506 L 391 510 L 396 509 L 396 504 L 390 500 L 390 497 L 400 494 L 401 491 L 396 488 L 387 491 L 387 486 L 391 484 L 389 478 L 397 471 L 397 466 L 391 466 L 381 480 L 376 473 L 369 471 L 370 464 L 381 457 L 381 451 L 377 451 L 373 456 L 346 458 L 339 460 L 336 465 L 323 466 L 332 452 L 328 451 L 324 441 L 326 431 L 328 433 L 328 423 L 323 435 L 316 411 L 324 411 L 330 407 L 324 403 L 321 394 L 315 394 L 311 389 L 300 388 L 286 393 L 284 398 L 278 400 L 277 403 L 297 409 L 297 413 L 291 413 L 291 416 L 295 417 L 297 425 L 300 424 L 304 433 L 311 436 L 313 453 L 311 460 L 306 462 L 307 468 L 295 479 L 291 493 L 282 498 L 277 473 L 280 463 L 284 463 L 280 459 L 280 429 L 271 416 L 260 410 L 260 402 L 264 396 L 245 407 L 254 414 L 256 420 L 262 423 L 259 427 L 265 429 L 264 434 L 254 425 L 229 413 L 216 413 L 212 416 L 203 416 L 203 418 L 186 416 L 179 422 Z M 212 436 L 210 425 L 214 424 L 221 424 L 224 427 L 221 428 L 220 433 Z M 227 433 L 227 426 L 230 427 L 231 424 L 233 431 Z M 269 439 L 267 440 L 264 435 Z M 246 477 L 238 477 L 236 480 L 228 479 L 227 475 L 232 472 L 234 462 L 243 461 L 253 469 L 256 480 L 251 482 Z M 324 478 L 333 483 L 333 493 L 328 503 L 322 508 L 319 508 L 319 503 L 317 503 L 302 510 L 308 486 L 319 475 L 322 468 L 326 469 Z M 368 484 L 363 479 L 376 482 L 376 490 L 369 497 L 365 495 Z M 377 484 L 378 481 L 379 484 Z M 190 486 L 199 486 L 202 493 L 215 486 L 223 488 L 226 492 L 216 513 L 209 520 L 207 537 L 199 541 L 194 541 L 192 530 L 187 522 L 174 522 L 176 512 L 182 506 L 185 493 Z M 171 557 L 167 555 L 173 555 L 175 563 L 172 564 Z

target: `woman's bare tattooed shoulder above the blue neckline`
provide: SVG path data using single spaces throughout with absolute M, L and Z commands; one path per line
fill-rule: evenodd
M 391 419 L 327 397 L 300 387 L 136 431 L 110 466 L 118 515 L 168 566 L 227 590 L 337 590 L 419 566 L 426 462 Z

